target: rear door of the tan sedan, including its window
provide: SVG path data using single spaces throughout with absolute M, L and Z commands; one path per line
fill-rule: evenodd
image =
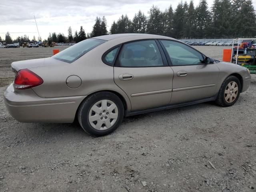
M 169 104 L 173 75 L 153 39 L 123 44 L 114 65 L 114 82 L 128 95 L 133 111 Z

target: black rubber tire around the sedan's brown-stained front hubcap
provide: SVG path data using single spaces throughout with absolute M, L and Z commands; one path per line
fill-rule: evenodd
M 238 95 L 236 96 L 236 99 L 232 103 L 228 103 L 225 100 L 225 90 L 226 90 L 226 86 L 232 81 L 234 81 L 238 84 Z M 236 76 L 229 76 L 228 78 L 226 78 L 226 80 L 224 80 L 224 82 L 221 86 L 221 90 L 219 92 L 223 106 L 232 106 L 233 104 L 235 104 L 240 96 L 240 92 L 241 92 L 240 80 Z

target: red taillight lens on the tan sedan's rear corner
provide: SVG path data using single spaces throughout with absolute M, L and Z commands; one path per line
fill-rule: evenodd
M 28 69 L 19 70 L 14 80 L 16 89 L 28 89 L 41 85 L 44 81 L 40 76 Z

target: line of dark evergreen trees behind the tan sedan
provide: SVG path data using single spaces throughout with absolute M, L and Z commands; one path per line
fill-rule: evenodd
M 256 37 L 256 14 L 252 0 L 214 0 L 208 7 L 206 0 L 200 0 L 194 6 L 191 0 L 188 4 L 182 1 L 175 10 L 172 5 L 161 11 L 158 6 L 152 6 L 146 16 L 141 10 L 130 20 L 122 15 L 111 24 L 107 30 L 107 21 L 96 17 L 92 32 L 85 32 L 83 26 L 72 33 L 68 28 L 68 36 L 63 33 L 49 33 L 48 40 L 53 42 L 80 42 L 86 38 L 118 33 L 148 33 L 170 36 L 177 39 L 186 38 L 245 38 Z M 45 39 L 46 40 L 46 39 Z M 0 37 L 0 41 L 2 41 Z M 10 33 L 5 36 L 7 44 L 12 42 L 30 42 L 28 36 L 19 36 L 12 40 Z M 32 41 L 36 41 L 33 37 Z M 38 38 L 38 41 L 42 41 Z

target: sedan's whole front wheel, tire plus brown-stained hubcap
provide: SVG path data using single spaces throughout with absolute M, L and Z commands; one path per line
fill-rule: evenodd
M 222 83 L 215 102 L 222 107 L 232 106 L 238 100 L 240 92 L 240 80 L 235 76 L 228 76 Z

